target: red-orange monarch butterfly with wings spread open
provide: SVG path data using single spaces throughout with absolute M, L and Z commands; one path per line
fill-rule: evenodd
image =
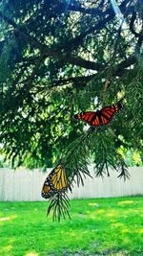
M 112 121 L 113 115 L 122 107 L 123 105 L 121 103 L 117 103 L 114 105 L 106 106 L 101 110 L 97 109 L 97 111 L 88 111 L 76 114 L 74 115 L 74 118 L 78 120 L 84 120 L 94 127 L 105 126 Z

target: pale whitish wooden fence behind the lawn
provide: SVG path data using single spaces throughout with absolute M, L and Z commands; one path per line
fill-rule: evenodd
M 109 198 L 124 196 L 143 196 L 143 168 L 129 168 L 130 179 L 124 181 L 117 178 L 117 173 L 111 171 L 111 176 L 95 177 L 92 166 L 91 177 L 85 179 L 85 185 L 79 188 L 75 185 L 70 198 Z M 41 201 L 41 188 L 47 175 L 39 170 L 0 169 L 0 201 Z

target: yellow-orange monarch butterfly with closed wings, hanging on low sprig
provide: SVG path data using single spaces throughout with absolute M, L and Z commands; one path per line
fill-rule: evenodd
M 68 189 L 68 181 L 65 174 L 65 170 L 62 164 L 58 164 L 52 171 L 51 174 L 46 178 L 43 188 L 42 197 L 51 198 L 55 194 L 60 194 Z

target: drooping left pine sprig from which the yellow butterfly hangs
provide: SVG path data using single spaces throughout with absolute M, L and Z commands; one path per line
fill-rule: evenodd
M 83 177 L 86 178 L 87 175 L 90 175 L 90 172 L 88 170 L 88 161 L 85 159 L 85 157 L 82 157 L 81 150 L 84 148 L 83 143 L 89 136 L 89 132 L 91 132 L 91 129 L 89 129 L 87 132 L 85 132 L 83 135 L 81 135 L 78 139 L 75 140 L 75 142 L 72 142 L 71 145 L 67 149 L 67 154 L 65 154 L 65 157 L 61 160 L 64 169 L 66 172 L 66 176 L 68 178 L 69 183 L 69 190 L 72 192 L 72 183 L 75 182 L 79 186 L 80 184 L 84 185 Z M 81 147 L 82 145 L 82 147 Z M 80 151 L 80 159 L 77 158 L 77 153 Z M 84 155 L 87 153 L 86 151 L 83 152 Z M 88 155 L 87 155 L 88 157 Z M 92 177 L 92 176 L 91 176 Z M 66 215 L 70 217 L 69 214 L 69 198 L 67 196 L 67 193 L 56 193 L 51 199 L 50 199 L 50 205 L 48 207 L 48 215 L 52 212 L 52 220 L 53 221 L 60 221 L 61 217 L 64 219 L 66 218 Z

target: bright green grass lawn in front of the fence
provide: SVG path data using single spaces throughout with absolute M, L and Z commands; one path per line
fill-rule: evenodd
M 71 200 L 52 222 L 46 202 L 0 202 L 1 256 L 143 256 L 143 198 Z

